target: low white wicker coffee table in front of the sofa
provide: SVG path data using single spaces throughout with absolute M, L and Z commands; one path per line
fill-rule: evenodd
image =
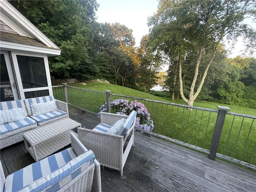
M 70 132 L 78 127 L 80 123 L 67 118 L 28 131 L 23 134 L 25 148 L 35 161 L 41 160 L 70 144 Z

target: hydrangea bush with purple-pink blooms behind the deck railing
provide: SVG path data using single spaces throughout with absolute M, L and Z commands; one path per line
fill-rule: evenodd
M 129 115 L 132 110 L 137 112 L 136 118 L 136 127 L 146 130 L 152 131 L 154 128 L 154 122 L 150 119 L 150 113 L 141 102 L 129 101 L 127 99 L 116 99 L 110 102 L 111 113 L 121 114 L 121 115 Z M 106 103 L 100 107 L 100 112 L 106 112 L 107 106 Z

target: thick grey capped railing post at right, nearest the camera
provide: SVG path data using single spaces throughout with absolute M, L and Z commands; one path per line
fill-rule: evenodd
M 217 150 L 218 150 L 218 146 L 219 146 L 219 142 L 220 142 L 220 136 L 222 133 L 222 128 L 224 125 L 224 121 L 226 118 L 226 114 L 227 111 L 230 111 L 229 107 L 224 107 L 224 106 L 217 106 L 219 112 L 218 112 L 218 116 L 216 119 L 216 123 L 215 123 L 215 127 L 214 127 L 214 132 L 212 135 L 212 143 L 210 146 L 210 154 L 208 155 L 208 158 L 211 160 L 215 160 L 216 159 L 216 154 L 217 154 Z

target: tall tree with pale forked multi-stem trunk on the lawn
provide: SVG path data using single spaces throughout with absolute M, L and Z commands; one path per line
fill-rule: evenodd
M 162 50 L 177 50 L 172 51 L 172 57 L 178 64 L 180 95 L 186 104 L 193 106 L 224 38 L 230 40 L 244 36 L 246 46 L 256 46 L 256 30 L 243 24 L 245 18 L 256 19 L 255 6 L 255 1 L 240 0 L 159 0 L 158 11 L 149 19 L 150 34 L 152 40 L 158 40 L 158 48 L 165 44 Z M 193 66 L 194 75 L 186 97 L 183 66 L 188 62 Z M 206 65 L 198 80 L 203 63 Z

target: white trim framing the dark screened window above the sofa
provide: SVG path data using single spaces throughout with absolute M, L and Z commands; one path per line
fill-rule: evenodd
M 22 52 L 11 52 L 11 53 L 12 53 L 12 60 L 13 60 L 13 64 L 14 64 L 14 70 L 15 70 L 15 74 L 16 74 L 16 78 L 17 78 L 17 83 L 18 83 L 21 99 L 22 100 L 25 99 L 25 92 L 37 91 L 37 90 L 49 90 L 49 95 L 53 95 L 52 82 L 51 82 L 50 69 L 49 69 L 47 55 L 26 54 L 26 53 L 22 53 Z M 24 89 L 23 88 L 22 80 L 21 80 L 21 76 L 20 76 L 20 68 L 19 68 L 18 60 L 17 60 L 17 55 L 44 58 L 44 67 L 45 67 L 45 71 L 46 71 L 46 79 L 47 79 L 47 84 L 48 84 L 47 87 L 29 88 L 29 89 Z

